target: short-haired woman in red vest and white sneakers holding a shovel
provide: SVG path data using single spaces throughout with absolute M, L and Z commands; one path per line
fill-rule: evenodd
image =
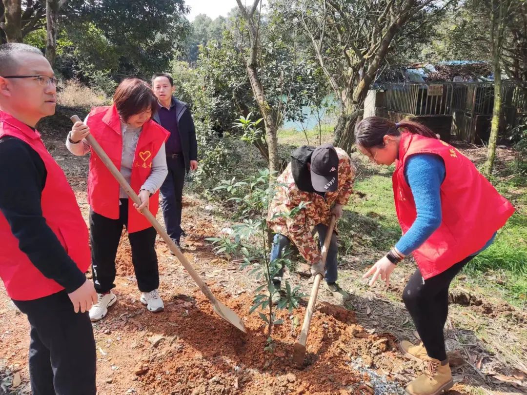
M 168 132 L 152 121 L 158 108 L 150 86 L 138 78 L 127 78 L 113 95 L 113 105 L 95 107 L 82 122 L 76 122 L 66 146 L 75 155 L 90 152 L 84 139 L 91 133 L 115 166 L 139 195 L 136 206 L 94 152 L 90 157 L 88 202 L 90 203 L 90 240 L 92 272 L 97 303 L 90 319 L 102 319 L 115 303 L 115 255 L 123 225 L 128 230 L 132 263 L 140 301 L 150 311 L 164 308 L 159 296 L 158 259 L 154 249 L 155 229 L 140 213 L 144 207 L 155 216 L 159 206 L 159 188 L 167 176 L 164 143 Z

